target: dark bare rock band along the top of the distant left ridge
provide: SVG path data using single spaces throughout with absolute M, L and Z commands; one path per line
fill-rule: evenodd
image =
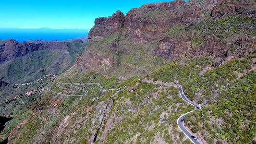
M 65 41 L 44 41 L 35 40 L 27 42 L 17 42 L 14 39 L 7 39 L 0 41 L 0 63 L 13 58 L 22 57 L 37 50 L 48 49 L 66 49 L 67 43 Z

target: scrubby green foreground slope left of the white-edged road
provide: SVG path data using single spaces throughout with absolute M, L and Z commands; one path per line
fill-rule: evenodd
M 70 77 L 65 78 L 66 74 Z M 101 92 L 97 85 L 80 86 L 88 90 L 83 99 L 47 92 L 35 105 L 33 116 L 19 128 L 12 129 L 9 142 L 139 144 L 185 141 L 183 133 L 178 132 L 176 119 L 193 108 L 182 100 L 177 88 L 140 82 L 138 78 L 135 76 L 117 84 L 117 78 L 106 79 L 95 72 L 83 73 L 79 69 L 65 72 L 54 80 L 52 90 L 62 94 L 70 91 L 65 91 L 65 84 L 61 84 L 60 89 L 57 84 L 60 81 L 77 86 L 77 83 L 102 83 L 104 89 L 114 90 Z M 123 86 L 127 87 L 124 91 L 116 91 Z M 95 97 L 98 100 L 93 101 Z

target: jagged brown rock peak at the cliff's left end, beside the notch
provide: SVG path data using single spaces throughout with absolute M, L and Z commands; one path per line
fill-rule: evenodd
M 88 42 L 93 38 L 100 39 L 120 31 L 124 25 L 124 15 L 122 12 L 117 11 L 110 17 L 95 19 L 94 24 L 94 27 L 88 34 Z

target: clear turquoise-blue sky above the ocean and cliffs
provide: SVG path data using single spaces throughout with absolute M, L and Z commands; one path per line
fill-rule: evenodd
M 97 17 L 160 1 L 166 0 L 1 0 L 0 28 L 90 29 Z

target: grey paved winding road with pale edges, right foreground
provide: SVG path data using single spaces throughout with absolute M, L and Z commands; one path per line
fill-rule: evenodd
M 183 88 L 182 88 L 181 86 L 174 85 L 174 84 L 170 84 L 170 83 L 153 82 L 153 81 L 150 81 L 150 80 L 142 80 L 142 82 L 153 83 L 153 84 L 163 84 L 163 85 L 167 85 L 167 86 L 178 87 L 178 88 L 179 88 L 180 95 L 181 95 L 181 97 L 182 97 L 182 99 L 183 99 L 184 101 L 186 101 L 187 103 L 193 105 L 193 106 L 195 107 L 194 110 L 201 108 L 200 106 L 196 105 L 195 103 L 191 102 L 189 99 L 186 98 L 186 96 L 184 95 L 184 92 L 183 92 Z M 184 127 L 184 123 L 181 122 L 181 120 L 183 120 L 183 118 L 185 117 L 186 114 L 191 113 L 191 112 L 193 112 L 194 110 L 183 114 L 179 119 L 177 119 L 177 124 L 178 124 L 179 129 L 180 129 L 194 144 L 201 144 L 197 139 L 193 139 L 193 138 L 191 137 L 191 136 L 192 136 L 192 133 L 190 133 L 188 130 L 186 130 L 186 128 Z

